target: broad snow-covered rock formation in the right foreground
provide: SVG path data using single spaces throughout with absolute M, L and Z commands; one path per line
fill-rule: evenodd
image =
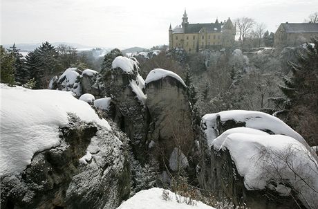
M 294 208 L 296 198 L 310 208 L 318 198 L 312 192 L 318 189 L 317 156 L 296 131 L 266 113 L 236 110 L 203 116 L 200 156 L 200 186 L 218 190 L 218 197 L 236 204 Z

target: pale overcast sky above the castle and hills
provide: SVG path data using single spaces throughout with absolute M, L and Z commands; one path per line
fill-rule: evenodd
M 282 22 L 303 22 L 318 0 L 1 0 L 1 44 L 71 42 L 127 48 L 168 44 L 171 23 L 251 17 L 275 31 Z

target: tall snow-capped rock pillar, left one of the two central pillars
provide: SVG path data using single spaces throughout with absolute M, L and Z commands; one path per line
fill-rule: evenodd
M 133 144 L 133 152 L 140 161 L 144 158 L 147 138 L 147 116 L 144 80 L 139 75 L 139 63 L 134 57 L 118 56 L 112 68 L 103 76 L 104 95 L 111 97 L 114 107 L 113 118 L 122 127 Z

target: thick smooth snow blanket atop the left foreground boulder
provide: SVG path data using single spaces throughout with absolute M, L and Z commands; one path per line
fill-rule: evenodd
M 84 122 L 111 129 L 95 111 L 67 91 L 1 88 L 1 176 L 19 174 L 30 164 L 35 152 L 60 144 L 59 127 L 68 125 L 68 113 Z

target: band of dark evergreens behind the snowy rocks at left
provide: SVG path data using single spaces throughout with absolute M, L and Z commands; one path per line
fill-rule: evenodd
M 79 53 L 76 48 L 60 44 L 55 47 L 44 42 L 35 51 L 23 57 L 13 44 L 1 50 L 1 82 L 18 84 L 30 89 L 47 89 L 50 79 L 69 67 L 78 69 L 100 69 L 93 51 Z M 98 49 L 96 49 L 98 50 Z

